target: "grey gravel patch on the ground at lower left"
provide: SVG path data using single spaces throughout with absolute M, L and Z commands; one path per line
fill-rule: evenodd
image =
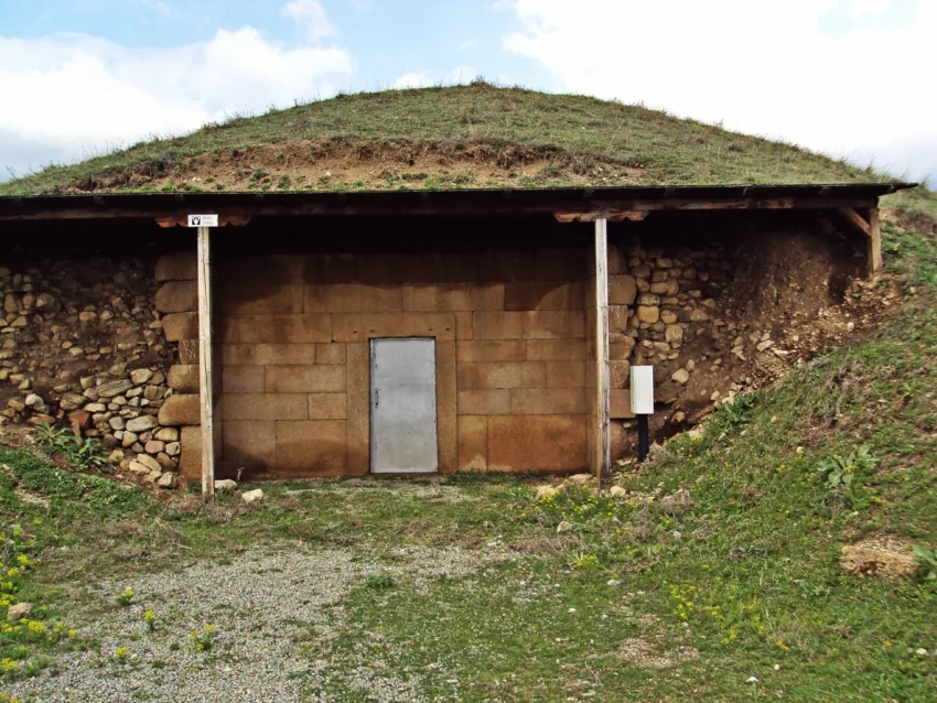
M 337 678 L 380 701 L 424 700 L 419 681 L 397 680 L 384 662 L 348 661 L 348 652 L 335 658 L 342 666 L 311 660 L 297 638 L 315 626 L 317 641 L 331 639 L 342 619 L 334 606 L 368 574 L 411 576 L 419 587 L 429 577 L 465 575 L 507 555 L 493 545 L 484 552 L 401 549 L 390 556 L 381 563 L 360 548 L 297 544 L 97 584 L 67 621 L 80 637 L 98 638 L 100 650 L 58 656 L 57 673 L 11 684 L 9 693 L 50 702 L 333 701 L 340 699 L 326 682 Z M 119 607 L 115 595 L 128 587 L 132 604 Z M 149 608 L 157 614 L 154 634 L 143 623 Z M 213 646 L 195 652 L 190 632 L 205 625 L 217 630 Z M 115 661 L 118 647 L 129 650 L 126 663 Z

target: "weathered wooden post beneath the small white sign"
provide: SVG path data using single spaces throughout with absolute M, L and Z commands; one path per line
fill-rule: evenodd
M 212 353 L 211 228 L 198 228 L 198 381 L 202 405 L 202 497 L 215 499 L 215 399 Z

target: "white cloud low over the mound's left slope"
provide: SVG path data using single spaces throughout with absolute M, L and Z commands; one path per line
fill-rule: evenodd
M 256 29 L 208 42 L 128 48 L 87 35 L 0 36 L 0 177 L 71 162 L 235 112 L 329 96 L 354 71 L 340 47 L 288 48 Z

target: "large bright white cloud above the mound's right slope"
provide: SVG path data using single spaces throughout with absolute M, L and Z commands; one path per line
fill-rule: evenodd
M 937 140 L 937 2 L 906 24 L 821 20 L 837 0 L 511 0 L 521 30 L 505 47 L 542 63 L 562 89 L 644 102 L 729 129 L 847 156 L 876 154 L 901 172 L 907 144 Z M 887 0 L 854 0 L 860 14 Z M 937 153 L 919 177 L 937 172 Z

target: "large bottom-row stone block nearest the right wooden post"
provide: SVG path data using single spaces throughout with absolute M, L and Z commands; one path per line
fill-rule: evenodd
M 588 465 L 585 415 L 488 418 L 489 469 L 561 472 Z

